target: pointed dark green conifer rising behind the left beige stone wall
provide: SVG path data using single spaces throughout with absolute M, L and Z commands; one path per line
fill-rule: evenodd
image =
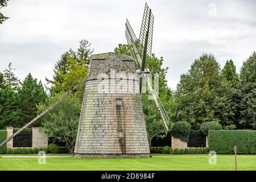
M 24 126 L 31 119 L 36 117 L 36 105 L 46 101 L 47 94 L 44 91 L 41 81 L 33 78 L 31 73 L 27 75 L 22 83 L 22 87 L 18 90 L 18 100 L 20 109 L 20 119 L 18 126 Z

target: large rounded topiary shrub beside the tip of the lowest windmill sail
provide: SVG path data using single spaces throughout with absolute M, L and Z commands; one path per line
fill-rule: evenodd
M 179 121 L 174 123 L 171 134 L 175 138 L 179 138 L 183 142 L 188 142 L 189 134 L 191 131 L 191 125 L 185 121 Z

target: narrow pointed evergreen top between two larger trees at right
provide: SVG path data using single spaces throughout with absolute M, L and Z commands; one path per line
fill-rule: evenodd
M 237 86 L 239 82 L 239 76 L 236 72 L 236 66 L 231 59 L 226 61 L 226 64 L 222 69 L 222 74 L 231 87 L 234 88 Z

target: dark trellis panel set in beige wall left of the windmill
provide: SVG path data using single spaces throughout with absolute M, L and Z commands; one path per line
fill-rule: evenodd
M 13 138 L 13 147 L 32 147 L 32 130 L 16 135 Z

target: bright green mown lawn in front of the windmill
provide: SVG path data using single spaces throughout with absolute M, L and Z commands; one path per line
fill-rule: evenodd
M 0 158 L 0 170 L 234 170 L 234 155 L 217 155 L 216 165 L 208 160 L 204 154 L 153 154 L 144 159 L 46 158 L 39 165 L 37 158 Z M 238 155 L 237 169 L 256 170 L 256 155 Z

